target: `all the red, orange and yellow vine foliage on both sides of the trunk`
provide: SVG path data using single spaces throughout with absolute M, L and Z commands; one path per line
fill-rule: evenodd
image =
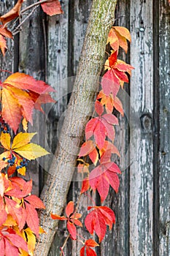
M 7 26 L 20 18 L 20 14 L 39 5 L 47 15 L 60 14 L 61 4 L 57 0 L 39 1 L 21 10 L 23 0 L 18 0 L 15 7 L 0 17 L 0 48 L 3 55 L 7 50 L 6 37 L 13 38 L 20 31 L 22 23 L 32 12 L 10 31 Z M 115 125 L 118 125 L 117 116 L 113 114 L 116 109 L 123 116 L 123 105 L 117 97 L 120 86 L 128 83 L 128 75 L 134 69 L 131 65 L 117 59 L 119 48 L 128 51 L 128 42 L 131 42 L 131 35 L 128 29 L 113 26 L 109 32 L 107 44 L 111 50 L 104 65 L 104 75 L 101 79 L 101 91 L 99 91 L 95 102 L 96 117 L 91 118 L 85 127 L 85 142 L 80 148 L 78 155 L 78 170 L 82 173 L 82 188 L 80 197 L 88 191 L 96 192 L 101 198 L 101 206 L 88 206 L 88 213 L 85 217 L 85 227 L 93 235 L 95 232 L 98 241 L 92 238 L 88 240 L 79 238 L 77 226 L 82 227 L 78 213 L 80 197 L 77 202 L 70 201 L 66 206 L 66 216 L 58 216 L 51 213 L 52 219 L 66 221 L 69 235 L 66 238 L 78 240 L 82 243 L 80 256 L 96 255 L 94 248 L 104 239 L 107 226 L 112 229 L 115 224 L 114 211 L 104 206 L 109 187 L 118 192 L 120 168 L 112 162 L 112 154 L 120 153 L 114 145 Z M 1 72 L 4 72 L 1 70 Z M 28 122 L 33 124 L 32 113 L 34 108 L 42 110 L 41 105 L 47 102 L 54 102 L 50 92 L 54 91 L 43 81 L 37 81 L 30 75 L 23 73 L 10 74 L 0 84 L 1 86 L 1 136 L 0 143 L 2 153 L 0 154 L 0 251 L 1 255 L 34 255 L 36 238 L 39 234 L 45 233 L 39 227 L 39 217 L 36 209 L 44 209 L 45 205 L 36 197 L 31 195 L 32 181 L 25 181 L 15 174 L 26 175 L 28 162 L 38 157 L 45 156 L 48 152 L 39 145 L 31 143 L 36 135 L 28 133 Z M 22 127 L 20 128 L 20 124 Z M 93 169 L 89 170 L 90 159 Z M 61 246 L 61 255 L 66 241 Z

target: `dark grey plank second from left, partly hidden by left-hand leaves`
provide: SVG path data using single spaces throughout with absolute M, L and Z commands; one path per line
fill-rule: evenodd
M 34 1 L 36 2 L 36 1 Z M 26 1 L 23 7 L 32 4 L 33 1 Z M 25 17 L 25 15 L 23 16 Z M 20 32 L 19 71 L 32 75 L 34 78 L 45 79 L 45 39 L 43 34 L 42 20 L 45 18 L 41 7 L 37 7 L 34 13 L 26 20 Z M 42 123 L 42 124 L 41 124 Z M 36 112 L 33 118 L 33 127 L 28 132 L 36 131 L 36 143 L 44 146 L 44 121 L 41 114 Z M 26 178 L 34 181 L 33 193 L 39 195 L 39 163 L 34 161 L 28 166 Z

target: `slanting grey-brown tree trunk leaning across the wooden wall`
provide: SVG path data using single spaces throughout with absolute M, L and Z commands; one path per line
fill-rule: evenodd
M 107 36 L 114 23 L 116 3 L 117 0 L 93 1 L 72 97 L 42 190 L 41 198 L 46 209 L 40 215 L 40 225 L 46 234 L 39 238 L 35 256 L 47 256 L 58 227 L 58 222 L 51 219 L 50 213 L 60 215 L 66 203 L 85 124 L 93 110 L 93 97 L 98 89 L 98 76 L 104 64 Z

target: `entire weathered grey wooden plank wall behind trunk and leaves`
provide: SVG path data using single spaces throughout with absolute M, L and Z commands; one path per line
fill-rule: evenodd
M 15 1 L 1 1 L 1 14 Z M 34 1 L 27 0 L 25 5 Z M 76 75 L 92 0 L 61 1 L 64 14 L 46 17 L 38 8 L 22 31 L 9 40 L 1 69 L 26 72 L 54 86 L 58 100 L 47 107 L 47 116 L 34 115 L 36 141 L 55 151 L 58 121 L 69 99 L 68 80 Z M 123 17 L 122 17 L 123 16 Z M 111 189 L 106 204 L 116 214 L 116 224 L 98 248 L 98 256 L 169 256 L 170 255 L 170 7 L 168 0 L 121 0 L 116 11 L 116 25 L 131 31 L 128 56 L 123 59 L 135 67 L 131 85 L 125 85 L 125 118 L 120 118 L 117 138 L 123 170 L 120 191 Z M 5 78 L 1 72 L 1 80 Z M 59 81 L 61 80 L 61 83 Z M 53 154 L 52 154 L 53 156 Z M 27 178 L 33 178 L 34 193 L 39 195 L 51 157 L 31 163 Z M 40 164 L 40 165 L 39 165 Z M 43 170 L 44 169 L 44 170 Z M 76 200 L 80 182 L 72 182 L 68 201 Z M 98 195 L 93 197 L 99 204 Z M 80 211 L 90 200 L 82 197 Z M 80 230 L 80 236 L 88 233 Z M 56 233 L 49 256 L 59 255 L 66 238 L 66 227 Z M 80 243 L 69 242 L 66 256 L 78 256 Z

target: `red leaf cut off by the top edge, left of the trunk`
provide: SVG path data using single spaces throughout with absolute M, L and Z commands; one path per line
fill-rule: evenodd
M 61 4 L 58 0 L 51 0 L 41 5 L 42 5 L 42 10 L 46 12 L 47 15 L 52 16 L 55 14 L 63 13 L 63 10 L 61 9 Z

